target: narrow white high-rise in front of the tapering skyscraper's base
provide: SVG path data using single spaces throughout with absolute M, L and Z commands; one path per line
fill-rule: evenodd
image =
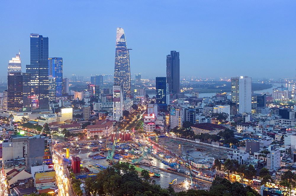
M 120 121 L 123 117 L 123 93 L 121 85 L 113 86 L 113 120 Z

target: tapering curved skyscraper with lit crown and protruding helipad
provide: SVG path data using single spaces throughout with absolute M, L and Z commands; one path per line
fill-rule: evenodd
M 114 66 L 114 84 L 123 87 L 123 94 L 131 94 L 131 71 L 129 50 L 126 46 L 126 37 L 122 28 L 117 28 L 116 48 L 115 48 L 115 66 Z

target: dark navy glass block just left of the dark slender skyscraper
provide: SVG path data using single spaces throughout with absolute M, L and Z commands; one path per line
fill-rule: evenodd
M 166 77 L 155 78 L 156 87 L 156 103 L 160 109 L 167 108 L 166 104 Z

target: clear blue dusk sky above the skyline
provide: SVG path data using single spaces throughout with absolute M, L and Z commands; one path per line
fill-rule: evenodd
M 116 28 L 130 50 L 131 73 L 166 74 L 180 52 L 181 76 L 295 77 L 296 1 L 0 1 L 0 76 L 30 33 L 49 37 L 49 57 L 64 76 L 114 74 Z

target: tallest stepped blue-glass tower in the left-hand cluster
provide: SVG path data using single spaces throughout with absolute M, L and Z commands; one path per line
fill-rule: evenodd
M 30 34 L 30 65 L 24 77 L 24 111 L 49 110 L 48 37 Z

